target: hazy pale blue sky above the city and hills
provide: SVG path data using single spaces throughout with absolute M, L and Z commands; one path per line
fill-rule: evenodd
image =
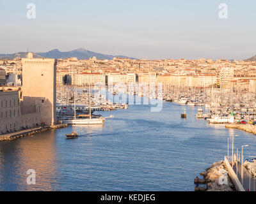
M 27 4 L 36 18 L 27 18 Z M 219 18 L 219 4 L 228 18 Z M 256 55 L 255 0 L 0 1 L 0 53 L 85 48 L 146 59 Z

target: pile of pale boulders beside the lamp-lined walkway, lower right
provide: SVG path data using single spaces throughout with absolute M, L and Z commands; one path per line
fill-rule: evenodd
M 204 177 L 205 187 L 195 187 L 195 191 L 236 191 L 228 174 L 227 184 L 220 184 L 220 179 L 224 175 L 223 170 L 227 171 L 224 161 L 213 163 L 210 168 L 207 168 L 204 172 L 200 173 L 200 175 Z M 196 184 L 196 179 L 194 180 L 194 183 Z

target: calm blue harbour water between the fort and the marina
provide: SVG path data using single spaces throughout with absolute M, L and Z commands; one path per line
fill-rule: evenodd
M 187 109 L 187 119 L 180 113 Z M 148 105 L 98 112 L 104 126 L 69 126 L 0 143 L 1 191 L 193 191 L 193 179 L 227 154 L 227 138 L 239 135 L 235 148 L 255 135 L 195 119 L 197 108 L 163 103 L 161 112 Z M 65 134 L 77 131 L 77 139 Z M 231 145 L 231 143 L 230 143 Z M 231 149 L 230 149 L 231 151 Z M 36 171 L 36 184 L 26 174 Z

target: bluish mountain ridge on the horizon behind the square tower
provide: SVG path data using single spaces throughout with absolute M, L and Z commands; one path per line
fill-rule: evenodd
M 0 54 L 0 59 L 13 59 L 15 57 L 26 57 L 27 52 L 18 52 L 15 54 Z M 76 50 L 71 50 L 68 52 L 61 52 L 58 49 L 51 50 L 49 52 L 36 52 L 34 53 L 35 58 L 54 58 L 59 59 L 63 58 L 66 59 L 68 57 L 77 57 L 77 59 L 89 59 L 91 57 L 96 57 L 97 59 L 113 59 L 113 57 L 122 57 L 122 58 L 129 58 L 129 59 L 136 59 L 134 57 L 126 57 L 123 55 L 106 55 L 100 54 L 97 52 L 92 52 L 89 50 L 85 50 L 83 48 L 78 48 Z

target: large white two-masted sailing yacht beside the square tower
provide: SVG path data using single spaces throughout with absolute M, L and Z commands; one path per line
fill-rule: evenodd
M 98 117 L 98 118 L 92 118 L 92 109 L 91 109 L 91 92 L 90 92 L 90 85 L 89 85 L 89 115 L 88 118 L 78 118 L 76 117 L 76 85 L 74 86 L 74 119 L 71 120 L 62 120 L 63 124 L 71 124 L 71 125 L 76 125 L 76 124 L 104 124 L 105 122 L 105 117 Z

